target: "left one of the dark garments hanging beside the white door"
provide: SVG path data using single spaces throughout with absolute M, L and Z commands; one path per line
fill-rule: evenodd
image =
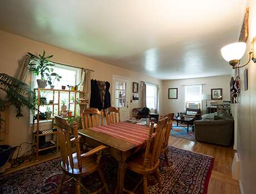
M 90 99 L 90 108 L 97 108 L 101 110 L 103 107 L 101 98 L 100 98 L 100 89 L 97 83 L 97 80 L 91 80 L 91 99 Z

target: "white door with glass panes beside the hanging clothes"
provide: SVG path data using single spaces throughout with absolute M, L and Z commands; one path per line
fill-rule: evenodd
M 129 78 L 113 75 L 112 106 L 120 108 L 121 121 L 129 119 Z

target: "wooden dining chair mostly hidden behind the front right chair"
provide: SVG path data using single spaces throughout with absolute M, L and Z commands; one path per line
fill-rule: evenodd
M 161 115 L 160 118 L 163 118 L 163 115 Z M 165 154 L 165 160 L 167 161 L 168 166 L 171 166 L 170 161 L 168 159 L 168 142 L 169 142 L 169 138 L 170 138 L 171 129 L 173 129 L 174 113 L 166 114 L 165 118 L 168 118 L 168 120 L 167 120 L 168 125 L 166 127 L 164 145 L 163 145 L 163 148 L 161 149 L 161 153 Z

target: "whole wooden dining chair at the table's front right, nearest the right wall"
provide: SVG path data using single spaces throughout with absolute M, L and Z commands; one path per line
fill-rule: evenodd
M 134 155 L 131 155 L 126 159 L 125 167 L 134 172 L 140 173 L 143 175 L 143 191 L 144 194 L 147 193 L 147 175 L 155 173 L 159 187 L 162 188 L 163 184 L 159 175 L 159 155 L 163 147 L 164 136 L 166 131 L 168 118 L 161 119 L 157 122 L 157 125 L 154 127 L 154 122 L 151 122 L 149 129 L 149 137 L 147 139 L 146 150 L 136 152 Z M 155 133 L 154 142 L 153 132 Z M 151 145 L 151 142 L 154 145 Z M 151 147 L 152 146 L 152 147 Z M 134 193 L 136 188 L 140 185 L 140 181 L 133 191 L 126 190 L 127 193 Z

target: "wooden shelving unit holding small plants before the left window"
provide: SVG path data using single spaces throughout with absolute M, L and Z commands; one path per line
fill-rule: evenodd
M 52 96 L 51 99 L 47 99 L 47 102 L 50 100 L 53 100 L 53 103 L 47 103 L 47 104 L 41 104 L 40 105 L 40 100 L 37 100 L 37 119 L 33 119 L 33 125 L 32 125 L 32 142 L 38 142 L 36 146 L 34 147 L 36 149 L 36 160 L 38 160 L 38 152 L 43 151 L 43 150 L 48 150 L 56 147 L 56 153 L 58 153 L 58 137 L 55 134 L 57 134 L 57 130 L 54 130 L 55 127 L 55 115 L 61 116 L 60 115 L 60 101 L 63 100 L 61 96 L 67 96 L 67 108 L 69 110 L 73 111 L 72 116 L 62 116 L 63 118 L 73 118 L 74 120 L 76 119 L 76 110 L 77 106 L 80 105 L 80 108 L 83 109 L 83 105 L 86 106 L 86 108 L 89 107 L 88 99 L 89 99 L 89 92 L 88 91 L 76 91 L 76 90 L 57 90 L 57 89 L 44 89 L 44 88 L 36 88 L 34 89 L 35 93 L 37 96 L 41 96 L 41 93 L 47 93 L 48 96 Z M 73 100 L 71 100 L 73 97 Z M 77 98 L 83 98 L 87 99 L 87 101 L 82 102 L 82 103 L 77 103 Z M 40 109 L 42 109 L 42 106 L 50 106 L 52 110 L 52 115 L 51 118 L 47 118 L 47 120 L 51 120 L 51 129 L 46 129 L 46 130 L 40 130 L 40 122 L 45 121 L 45 119 L 40 119 Z M 53 116 L 54 115 L 54 116 Z M 47 146 L 40 148 L 40 136 L 46 136 L 46 135 L 51 135 L 51 140 L 52 142 L 55 142 L 54 145 Z

